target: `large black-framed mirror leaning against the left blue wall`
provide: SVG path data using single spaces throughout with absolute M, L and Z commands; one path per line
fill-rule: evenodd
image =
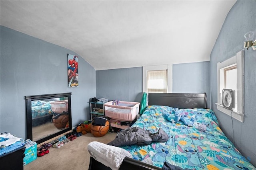
M 26 139 L 43 143 L 72 129 L 71 93 L 25 96 Z

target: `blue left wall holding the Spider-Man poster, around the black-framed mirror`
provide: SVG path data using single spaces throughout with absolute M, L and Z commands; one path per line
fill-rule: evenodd
M 1 26 L 0 131 L 26 137 L 24 96 L 71 92 L 72 125 L 90 119 L 89 98 L 96 95 L 96 71 L 79 57 L 79 87 L 68 88 L 63 47 Z

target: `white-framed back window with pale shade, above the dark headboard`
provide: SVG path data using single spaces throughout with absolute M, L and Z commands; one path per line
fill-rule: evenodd
M 172 92 L 172 64 L 144 66 L 143 92 Z

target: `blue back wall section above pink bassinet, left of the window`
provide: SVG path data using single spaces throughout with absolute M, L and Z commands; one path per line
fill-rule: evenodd
M 140 102 L 142 67 L 96 71 L 96 97 Z

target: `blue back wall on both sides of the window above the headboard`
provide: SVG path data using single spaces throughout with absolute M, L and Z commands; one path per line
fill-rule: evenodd
M 210 62 L 173 64 L 173 93 L 210 92 Z M 140 102 L 142 98 L 142 67 L 96 71 L 97 98 Z M 209 101 L 208 101 L 209 104 Z

